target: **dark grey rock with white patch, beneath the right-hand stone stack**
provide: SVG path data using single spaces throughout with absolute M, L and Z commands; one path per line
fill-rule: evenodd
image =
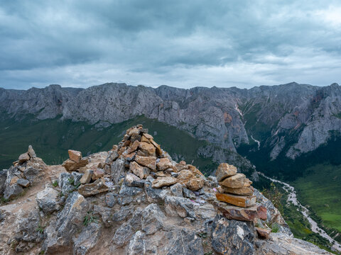
M 254 229 L 250 222 L 217 215 L 212 222 L 212 249 L 217 254 L 254 254 Z

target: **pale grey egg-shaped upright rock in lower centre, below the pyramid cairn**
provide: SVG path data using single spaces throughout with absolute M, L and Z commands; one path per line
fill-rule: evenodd
M 166 220 L 166 216 L 163 214 L 158 205 L 148 205 L 141 212 L 141 215 L 141 228 L 147 235 L 154 234 L 159 229 L 163 228 L 163 221 Z

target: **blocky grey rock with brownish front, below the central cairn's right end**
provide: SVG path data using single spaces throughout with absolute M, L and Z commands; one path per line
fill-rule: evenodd
M 188 198 L 166 196 L 165 210 L 171 216 L 195 217 L 194 204 Z

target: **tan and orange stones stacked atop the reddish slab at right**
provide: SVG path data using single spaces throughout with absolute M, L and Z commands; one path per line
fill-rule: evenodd
M 252 181 L 244 174 L 237 174 L 237 168 L 227 163 L 222 163 L 216 171 L 220 187 L 216 193 L 217 200 L 248 208 L 256 203 Z

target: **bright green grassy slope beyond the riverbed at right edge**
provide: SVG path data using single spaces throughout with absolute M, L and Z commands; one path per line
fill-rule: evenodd
M 300 200 L 322 218 L 323 225 L 341 232 L 341 165 L 318 164 L 293 182 Z

